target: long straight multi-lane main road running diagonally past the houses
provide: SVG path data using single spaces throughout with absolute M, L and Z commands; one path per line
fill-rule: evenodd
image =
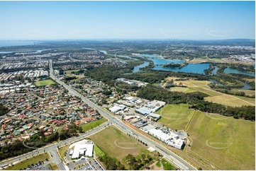
M 60 85 L 65 87 L 67 90 L 69 90 L 69 93 L 72 93 L 73 95 L 76 95 L 77 97 L 81 98 L 84 102 L 87 103 L 87 105 L 89 105 L 90 107 L 93 107 L 94 110 L 97 110 L 99 112 L 99 114 L 106 117 L 106 119 L 108 119 L 108 121 L 111 124 L 117 126 L 119 129 L 121 129 L 121 131 L 125 132 L 126 134 L 130 134 L 131 136 L 134 136 L 135 138 L 138 138 L 141 141 L 147 143 L 148 146 L 150 146 L 152 148 L 155 148 L 156 151 L 158 151 L 163 156 L 165 156 L 165 158 L 171 160 L 180 169 L 182 169 L 182 170 L 196 170 L 196 168 L 194 166 L 190 165 L 189 163 L 187 163 L 187 161 L 183 160 L 182 158 L 180 158 L 176 154 L 172 153 L 171 151 L 169 151 L 164 146 L 161 146 L 159 143 L 156 143 L 155 141 L 152 141 L 150 138 L 147 138 L 147 137 L 143 136 L 142 134 L 138 133 L 137 131 L 131 129 L 129 126 L 127 126 L 123 122 L 119 121 L 116 117 L 113 117 L 111 114 L 108 114 L 108 112 L 103 110 L 101 107 L 96 105 L 94 102 L 91 102 L 89 99 L 84 98 L 83 95 L 81 95 L 76 90 L 72 89 L 71 87 L 67 86 L 67 84 L 63 83 L 58 78 L 56 78 L 56 76 L 53 74 L 52 59 L 49 60 L 49 67 L 50 67 L 50 77 L 53 80 L 55 80 L 57 83 L 59 83 Z M 133 134 L 134 132 L 136 132 L 137 134 L 140 134 L 140 136 L 137 136 L 137 135 Z

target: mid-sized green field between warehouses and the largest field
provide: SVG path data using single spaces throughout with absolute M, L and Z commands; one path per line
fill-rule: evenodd
M 185 130 L 195 110 L 190 110 L 189 105 L 165 105 L 156 113 L 161 114 L 158 123 L 170 129 Z

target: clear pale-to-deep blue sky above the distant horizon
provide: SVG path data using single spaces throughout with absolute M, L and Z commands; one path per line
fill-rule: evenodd
M 0 40 L 255 39 L 255 1 L 0 1 Z

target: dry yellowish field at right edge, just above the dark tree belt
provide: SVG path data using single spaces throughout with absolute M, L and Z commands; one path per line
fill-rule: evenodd
M 216 103 L 220 103 L 222 105 L 228 105 L 228 106 L 242 106 L 242 105 L 255 104 L 255 99 L 245 98 L 245 97 L 240 97 L 235 95 L 218 95 L 214 97 L 206 97 L 205 99 L 210 102 L 216 102 Z

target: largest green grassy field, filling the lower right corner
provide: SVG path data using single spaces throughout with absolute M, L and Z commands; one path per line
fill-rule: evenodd
M 191 151 L 221 170 L 255 170 L 255 122 L 196 111 Z

